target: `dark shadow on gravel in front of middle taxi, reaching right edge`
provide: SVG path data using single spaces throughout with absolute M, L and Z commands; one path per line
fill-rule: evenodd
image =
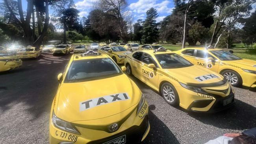
M 222 129 L 250 129 L 256 126 L 256 107 L 236 99 L 234 107 L 219 113 L 189 113 L 200 122 Z

